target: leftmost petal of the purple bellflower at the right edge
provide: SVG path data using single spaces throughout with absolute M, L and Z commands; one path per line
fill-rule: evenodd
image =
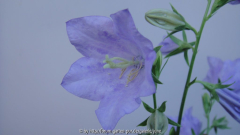
M 223 67 L 223 62 L 219 58 L 208 57 L 208 64 L 210 66 L 210 69 L 204 81 L 207 81 L 210 83 L 217 83 L 219 78 L 219 73 L 221 72 Z

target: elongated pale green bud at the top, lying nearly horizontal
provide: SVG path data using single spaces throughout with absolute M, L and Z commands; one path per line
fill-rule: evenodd
M 165 9 L 150 10 L 145 14 L 145 19 L 154 26 L 170 31 L 176 31 L 186 25 L 183 17 Z

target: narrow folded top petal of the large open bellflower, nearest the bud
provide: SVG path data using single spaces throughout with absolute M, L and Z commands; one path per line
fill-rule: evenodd
M 113 19 L 118 35 L 133 42 L 135 46 L 141 49 L 143 57 L 147 57 L 153 50 L 152 42 L 138 32 L 129 10 L 125 9 L 110 16 Z

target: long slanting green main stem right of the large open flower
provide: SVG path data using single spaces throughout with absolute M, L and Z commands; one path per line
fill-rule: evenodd
M 192 70 L 193 70 L 195 58 L 196 58 L 197 51 L 198 51 L 198 45 L 199 45 L 199 42 L 200 42 L 200 39 L 201 39 L 201 35 L 202 35 L 202 31 L 203 31 L 204 25 L 205 25 L 205 23 L 207 21 L 207 15 L 208 15 L 208 11 L 209 11 L 210 5 L 211 5 L 211 0 L 208 0 L 208 5 L 207 5 L 207 8 L 206 8 L 203 20 L 202 20 L 202 24 L 201 24 L 200 30 L 199 30 L 199 32 L 196 35 L 196 45 L 195 45 L 195 49 L 193 51 L 190 67 L 189 67 L 189 70 L 188 70 L 188 76 L 187 76 L 186 84 L 185 84 L 185 87 L 184 87 L 184 92 L 183 92 L 183 96 L 182 96 L 182 102 L 181 102 L 179 115 L 178 115 L 178 123 L 180 125 L 181 125 L 181 121 L 182 121 L 182 114 L 183 114 L 184 104 L 185 104 L 185 100 L 186 100 L 187 92 L 188 92 L 188 88 L 189 88 L 188 84 L 190 83 Z M 180 134 L 180 127 L 177 127 L 177 135 L 179 135 L 179 134 Z

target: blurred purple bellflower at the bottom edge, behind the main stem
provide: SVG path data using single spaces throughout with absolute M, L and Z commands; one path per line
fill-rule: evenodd
M 178 117 L 169 117 L 173 121 L 177 122 Z M 172 128 L 172 125 L 169 125 L 169 130 Z M 196 117 L 192 116 L 192 107 L 188 108 L 185 111 L 185 114 L 182 117 L 180 135 L 192 135 L 192 130 L 194 130 L 196 135 L 199 135 L 201 132 L 202 123 Z M 176 130 L 176 128 L 175 128 Z

